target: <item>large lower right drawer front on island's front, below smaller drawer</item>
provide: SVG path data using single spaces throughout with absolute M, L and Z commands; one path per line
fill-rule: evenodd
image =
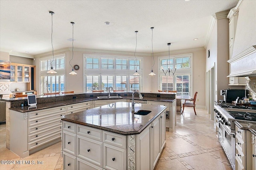
M 126 150 L 104 144 L 104 169 L 126 170 Z

